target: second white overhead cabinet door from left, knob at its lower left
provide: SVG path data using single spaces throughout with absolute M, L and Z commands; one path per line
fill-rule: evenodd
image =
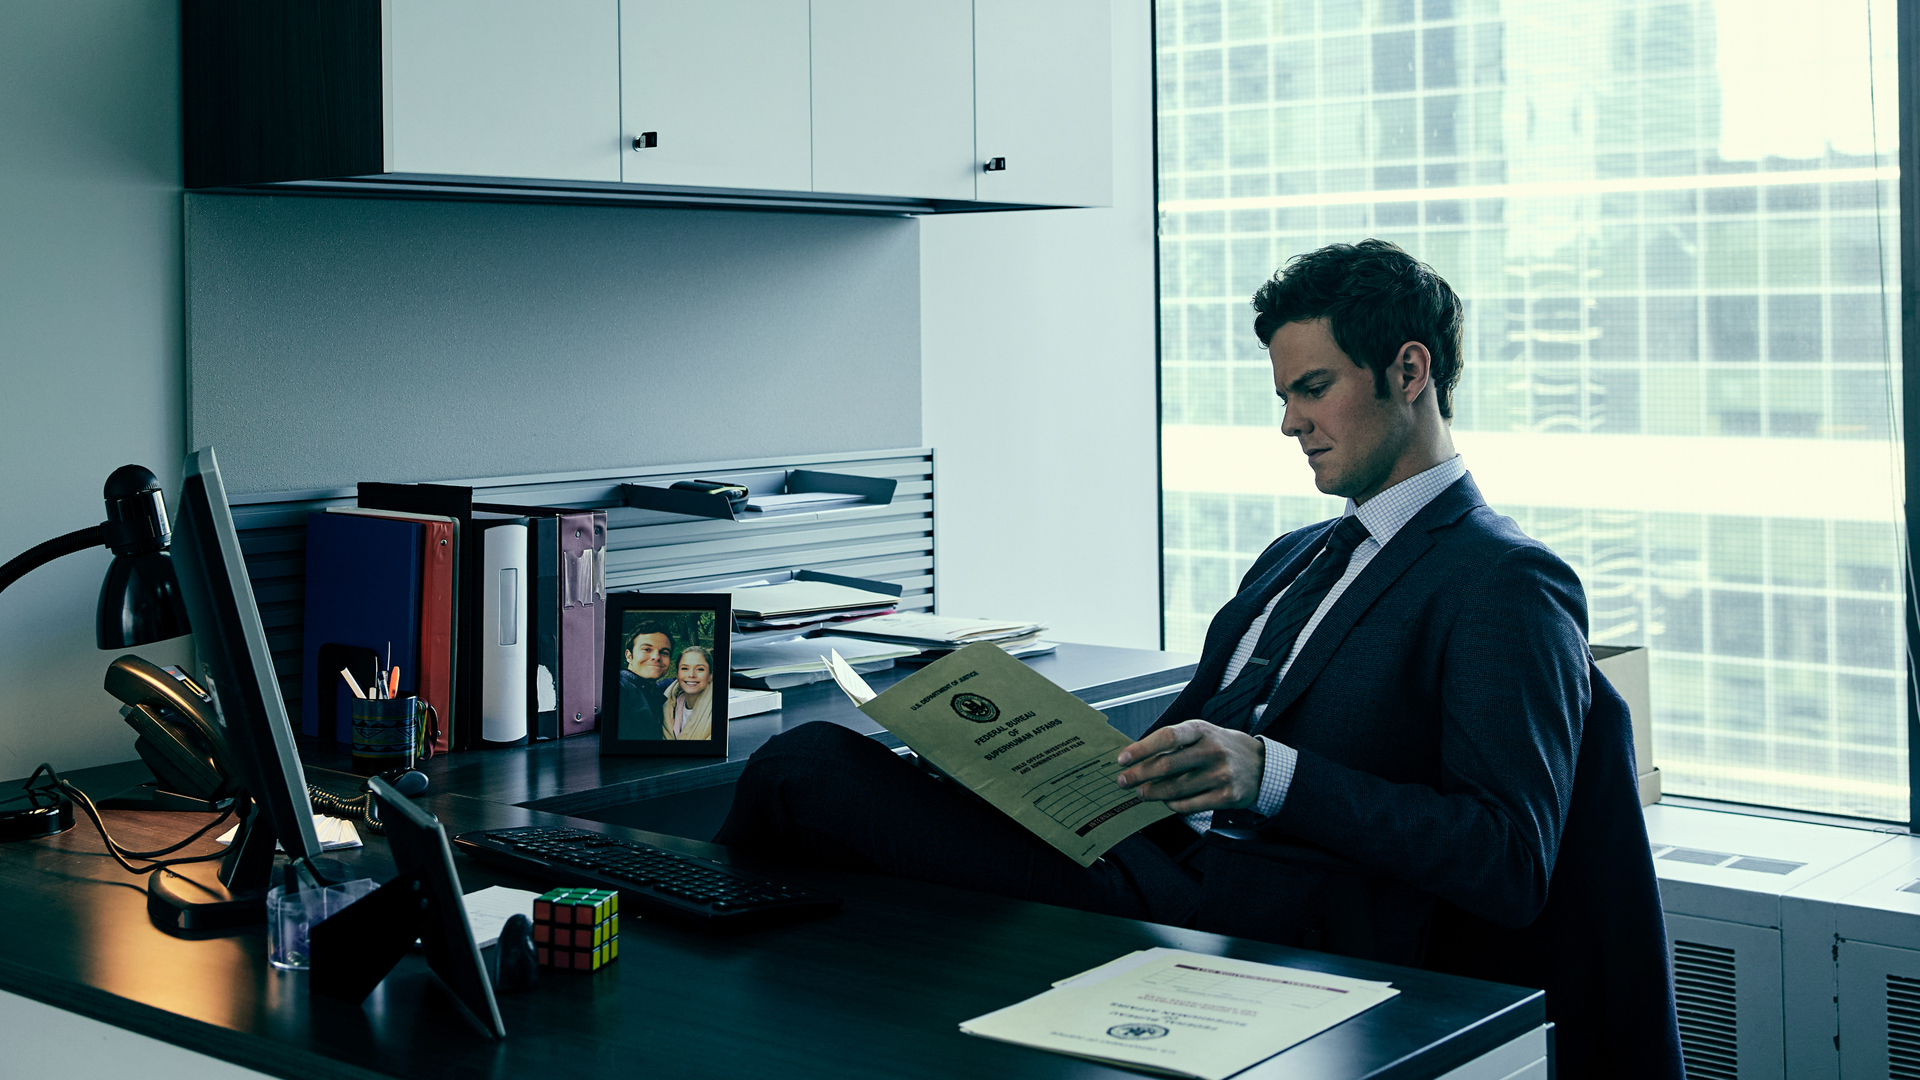
M 806 0 L 620 0 L 620 179 L 810 190 L 806 23 Z

